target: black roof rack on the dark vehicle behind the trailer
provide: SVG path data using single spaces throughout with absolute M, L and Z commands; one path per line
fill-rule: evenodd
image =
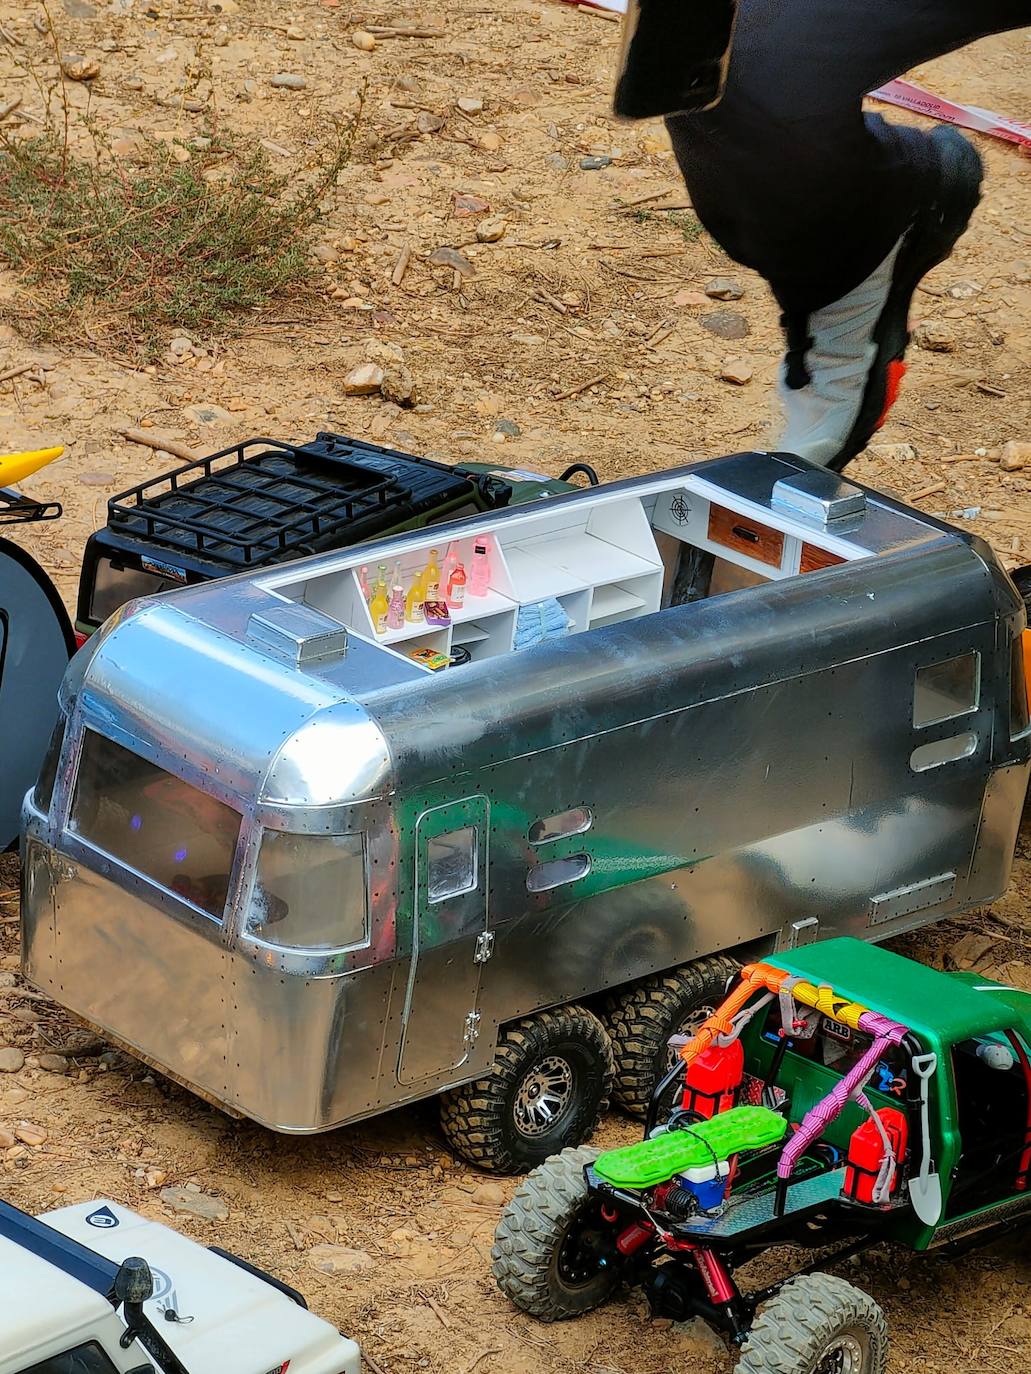
M 382 455 L 393 456 L 337 434 L 245 440 L 113 496 L 109 528 L 234 567 L 278 562 L 345 528 L 351 541 L 366 523 L 404 518 L 411 486 L 370 460 Z

